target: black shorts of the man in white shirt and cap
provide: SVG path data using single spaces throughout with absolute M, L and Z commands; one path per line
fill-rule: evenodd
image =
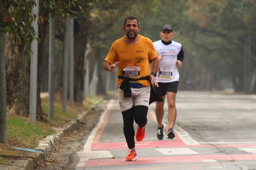
M 154 86 L 154 91 L 160 96 L 166 95 L 166 92 L 175 92 L 177 93 L 178 91 L 178 85 L 179 81 L 173 81 L 169 83 L 158 83 L 159 87 Z

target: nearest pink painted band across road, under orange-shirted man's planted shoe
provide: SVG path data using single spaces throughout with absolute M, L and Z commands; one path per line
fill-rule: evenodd
M 85 166 L 117 166 L 128 164 L 158 164 L 158 163 L 202 163 L 203 159 L 216 159 L 218 161 L 256 160 L 254 154 L 239 155 L 190 155 L 190 156 L 163 156 L 139 157 L 137 161 L 124 161 L 124 159 L 94 159 L 86 162 Z

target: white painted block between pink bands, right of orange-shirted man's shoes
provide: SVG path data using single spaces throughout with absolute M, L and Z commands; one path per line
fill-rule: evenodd
M 156 149 L 164 155 L 191 155 L 191 154 L 199 154 L 193 150 L 188 148 L 163 148 Z

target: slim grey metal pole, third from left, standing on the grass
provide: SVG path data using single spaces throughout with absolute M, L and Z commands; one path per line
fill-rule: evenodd
M 51 14 L 50 14 L 51 15 Z M 55 17 L 50 17 L 49 33 L 49 108 L 48 118 L 54 117 L 54 65 L 55 65 Z

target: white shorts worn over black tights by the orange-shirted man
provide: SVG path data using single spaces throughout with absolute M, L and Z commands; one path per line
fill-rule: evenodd
M 132 97 L 124 97 L 124 91 L 117 89 L 118 100 L 120 111 L 126 111 L 131 109 L 136 105 L 145 105 L 149 107 L 149 97 L 150 97 L 150 86 L 141 87 L 141 88 L 131 88 Z

